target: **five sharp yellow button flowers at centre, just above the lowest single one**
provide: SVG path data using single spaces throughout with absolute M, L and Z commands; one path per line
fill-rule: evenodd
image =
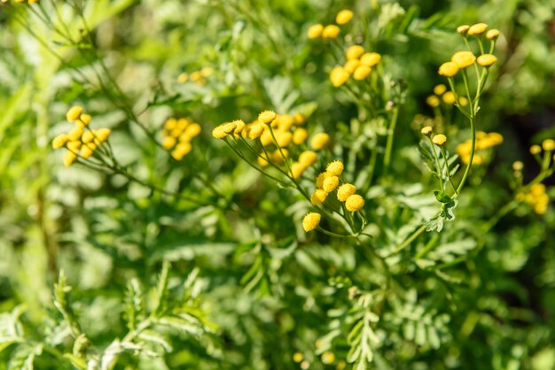
M 345 208 L 349 212 L 356 212 L 363 208 L 364 199 L 356 194 L 356 186 L 341 180 L 343 169 L 343 163 L 340 160 L 334 160 L 328 164 L 325 172 L 317 176 L 317 189 L 310 197 L 312 205 L 323 204 L 328 195 L 337 189 L 337 198 L 340 202 L 345 202 Z M 340 184 L 341 182 L 343 183 Z

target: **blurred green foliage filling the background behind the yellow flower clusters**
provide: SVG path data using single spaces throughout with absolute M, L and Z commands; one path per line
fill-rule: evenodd
M 41 3 L 86 34 L 71 6 Z M 555 212 L 518 204 L 495 218 L 514 197 L 512 161 L 533 178 L 528 146 L 555 136 L 552 0 L 67 3 L 83 7 L 95 48 L 78 52 L 29 5 L 0 6 L 0 369 L 296 369 L 297 352 L 314 369 L 555 367 Z M 356 104 L 329 81 L 330 45 L 306 37 L 345 7 L 408 86 L 392 169 L 365 195 L 375 251 L 306 234 L 306 199 L 210 135 L 274 109 L 330 133 L 326 160 L 370 148 L 353 135 Z M 503 34 L 479 126 L 504 144 L 472 173 L 456 220 L 385 258 L 437 208 L 415 117 L 433 114 L 424 102 L 463 46 L 456 27 L 479 21 Z M 206 85 L 176 82 L 203 67 Z M 73 104 L 113 130 L 132 173 L 201 204 L 64 167 L 51 139 Z M 185 116 L 203 133 L 176 162 L 145 132 Z

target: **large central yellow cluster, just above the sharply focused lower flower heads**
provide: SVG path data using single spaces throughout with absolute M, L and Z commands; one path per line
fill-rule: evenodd
M 292 145 L 302 145 L 309 138 L 309 132 L 301 127 L 306 122 L 306 117 L 297 113 L 277 114 L 273 111 L 264 111 L 258 115 L 254 122 L 246 124 L 242 119 L 225 122 L 214 128 L 212 135 L 216 139 L 249 139 L 261 143 L 258 164 L 262 167 L 271 164 L 282 166 L 290 156 Z M 330 135 L 317 133 L 312 135 L 309 144 L 312 150 L 304 150 L 296 161 L 290 166 L 293 179 L 301 177 L 302 173 L 317 162 L 317 153 L 330 143 Z

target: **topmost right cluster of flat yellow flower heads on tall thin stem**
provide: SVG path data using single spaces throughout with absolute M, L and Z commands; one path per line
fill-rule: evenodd
M 481 45 L 481 37 L 487 29 L 487 24 L 477 23 L 472 26 L 464 25 L 457 27 L 457 33 L 463 35 L 464 37 L 467 37 L 468 35 L 476 36 Z M 473 66 L 474 63 L 477 63 L 479 66 L 489 68 L 489 66 L 492 66 L 497 61 L 496 56 L 493 55 L 492 52 L 498 37 L 499 31 L 496 29 L 490 29 L 486 33 L 486 38 L 491 41 L 489 53 L 484 53 L 482 51 L 482 54 L 476 58 L 472 51 L 457 51 L 448 62 L 445 62 L 442 66 L 440 66 L 438 73 L 445 77 L 453 77 L 459 70 Z M 482 47 L 481 50 L 483 50 Z

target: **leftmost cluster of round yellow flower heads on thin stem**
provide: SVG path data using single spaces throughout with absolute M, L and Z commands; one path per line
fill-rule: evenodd
M 66 119 L 69 123 L 74 123 L 74 128 L 60 134 L 52 140 L 52 148 L 59 149 L 66 147 L 63 162 L 64 165 L 71 166 L 77 158 L 90 158 L 98 147 L 106 142 L 111 133 L 109 128 L 103 127 L 91 129 L 89 127 L 90 114 L 82 112 L 82 107 L 75 105 L 66 112 Z

